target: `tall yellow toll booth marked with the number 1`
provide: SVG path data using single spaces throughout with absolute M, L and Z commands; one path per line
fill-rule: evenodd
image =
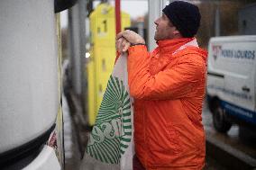
M 131 25 L 130 15 L 121 13 L 121 28 Z M 115 13 L 114 6 L 103 3 L 97 5 L 89 16 L 90 58 L 87 62 L 87 112 L 88 124 L 93 126 L 96 114 L 105 93 L 107 80 L 114 67 Z

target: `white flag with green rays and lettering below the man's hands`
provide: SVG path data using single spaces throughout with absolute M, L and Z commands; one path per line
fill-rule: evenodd
M 121 55 L 110 76 L 80 170 L 133 170 L 133 105 L 127 57 Z

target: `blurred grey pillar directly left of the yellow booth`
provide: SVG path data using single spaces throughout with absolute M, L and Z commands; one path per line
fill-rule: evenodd
M 78 0 L 69 10 L 69 57 L 71 81 L 75 94 L 82 94 L 83 64 L 86 55 L 86 1 Z

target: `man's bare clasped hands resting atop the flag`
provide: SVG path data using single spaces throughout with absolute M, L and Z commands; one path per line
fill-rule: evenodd
M 136 44 L 145 44 L 145 40 L 134 31 L 122 31 L 116 36 L 116 49 L 118 51 L 121 49 L 122 52 L 125 52 L 131 45 Z

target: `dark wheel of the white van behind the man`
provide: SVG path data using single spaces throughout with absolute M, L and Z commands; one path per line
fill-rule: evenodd
M 215 103 L 215 108 L 213 111 L 213 122 L 215 130 L 221 133 L 226 133 L 232 126 L 232 123 L 226 120 L 224 114 L 224 110 L 221 108 L 220 104 Z

